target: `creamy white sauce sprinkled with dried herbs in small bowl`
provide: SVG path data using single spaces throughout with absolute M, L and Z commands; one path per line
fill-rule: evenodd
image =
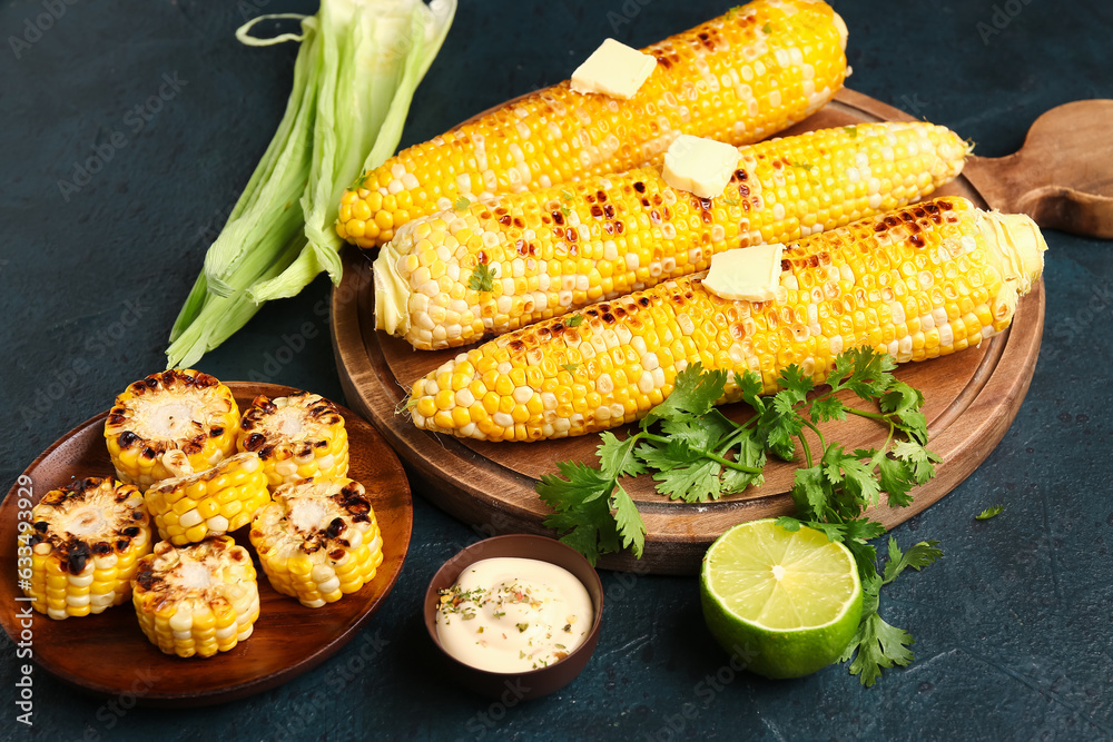
M 436 635 L 464 664 L 523 672 L 563 660 L 588 637 L 593 620 L 588 590 L 568 570 L 500 557 L 475 562 L 442 591 Z

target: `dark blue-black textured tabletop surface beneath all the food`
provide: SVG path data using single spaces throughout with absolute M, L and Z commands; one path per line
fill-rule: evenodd
M 9 37 L 22 36 L 24 21 L 33 23 L 50 2 L 65 13 L 17 58 Z M 223 222 L 289 90 L 295 48 L 248 49 L 233 32 L 245 10 L 314 7 L 67 2 L 0 7 L 6 487 L 50 442 L 162 367 L 167 332 L 207 246 L 203 233 Z M 465 1 L 417 92 L 403 144 L 567 77 L 604 36 L 638 46 L 726 7 Z M 954 128 L 983 155 L 1013 151 L 1053 106 L 1113 97 L 1109 3 L 860 0 L 837 8 L 850 28 L 851 87 Z M 629 22 L 612 28 L 623 12 Z M 177 75 L 180 89 L 149 121 L 129 116 L 159 92 L 164 75 Z M 63 198 L 58 181 L 70 180 L 93 147 L 111 146 L 116 131 L 122 146 L 111 160 Z M 695 731 L 769 740 L 1109 739 L 1113 253 L 1057 233 L 1047 241 L 1046 329 L 1032 389 L 988 461 L 894 531 L 906 544 L 939 540 L 946 558 L 887 590 L 883 614 L 916 635 L 917 659 L 873 689 L 845 666 L 776 683 L 722 671 L 727 682 L 712 685 L 706 679 L 727 656 L 703 629 L 696 581 L 604 574 L 605 623 L 584 674 L 551 698 L 492 706 L 425 670 L 425 584 L 475 534 L 418 497 L 393 594 L 363 634 L 317 670 L 243 702 L 181 712 L 127 710 L 127 698 L 105 704 L 37 671 L 28 730 L 16 722 L 18 663 L 3 637 L 0 738 L 679 739 Z M 254 372 L 339 398 L 327 324 L 314 311 L 327 289 L 318 280 L 267 306 L 201 367 L 228 379 Z M 298 333 L 313 335 L 305 348 L 280 368 L 268 366 Z M 91 370 L 73 373 L 82 363 Z M 973 520 L 996 503 L 1003 515 Z M 386 642 L 377 653 L 376 640 Z

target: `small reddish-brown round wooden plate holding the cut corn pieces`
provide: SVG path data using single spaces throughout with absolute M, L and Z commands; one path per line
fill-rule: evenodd
M 243 410 L 256 395 L 283 396 L 296 392 L 276 384 L 230 382 Z M 61 680 L 98 695 L 132 694 L 138 702 L 161 706 L 200 706 L 242 699 L 279 685 L 312 670 L 348 643 L 391 592 L 410 547 L 413 501 L 405 472 L 383 437 L 355 413 L 341 408 L 348 432 L 349 473 L 367 488 L 383 534 L 383 563 L 375 578 L 336 603 L 308 609 L 275 592 L 259 572 L 259 619 L 252 636 L 230 652 L 208 659 L 162 654 L 147 641 L 136 621 L 131 602 L 98 615 L 53 621 L 32 612 L 33 661 Z M 73 476 L 107 476 L 112 465 L 105 447 L 107 412 L 73 428 L 31 464 L 30 499 L 62 486 Z M 0 623 L 17 644 L 27 629 L 19 611 L 16 582 L 16 538 L 20 477 L 0 505 Z M 27 516 L 23 516 L 27 520 Z M 255 557 L 247 526 L 235 532 L 236 542 Z M 28 660 L 30 661 L 30 660 Z

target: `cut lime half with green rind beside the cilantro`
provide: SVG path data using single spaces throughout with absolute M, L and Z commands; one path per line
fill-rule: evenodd
M 771 520 L 736 525 L 711 544 L 700 600 L 719 644 L 766 677 L 800 677 L 831 664 L 861 619 L 861 583 L 846 546 Z

